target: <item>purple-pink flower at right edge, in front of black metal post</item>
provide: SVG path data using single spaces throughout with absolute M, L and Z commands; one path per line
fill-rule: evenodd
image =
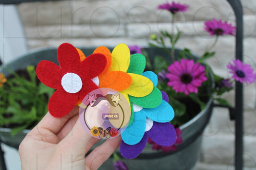
M 249 64 L 243 64 L 239 59 L 233 59 L 232 61 L 234 65 L 229 63 L 227 68 L 230 69 L 229 73 L 232 74 L 233 79 L 240 81 L 241 83 L 245 82 L 246 84 L 255 81 L 256 74 Z

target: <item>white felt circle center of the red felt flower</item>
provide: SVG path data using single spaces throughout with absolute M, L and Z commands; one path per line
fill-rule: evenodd
M 82 79 L 75 73 L 67 73 L 61 79 L 61 86 L 69 93 L 76 93 L 82 89 Z

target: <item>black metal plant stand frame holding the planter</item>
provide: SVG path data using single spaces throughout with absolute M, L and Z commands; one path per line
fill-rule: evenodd
M 0 4 L 14 4 L 26 1 L 47 1 L 47 0 L 0 0 Z M 235 44 L 235 58 L 243 61 L 243 6 L 240 0 L 227 0 L 236 17 L 236 44 Z M 243 84 L 236 81 L 235 89 L 235 108 L 230 109 L 230 117 L 235 120 L 235 170 L 243 169 Z M 12 144 L 0 140 L 0 144 L 5 143 L 8 146 Z M 0 146 L 0 170 L 6 170 L 4 161 L 4 153 Z

